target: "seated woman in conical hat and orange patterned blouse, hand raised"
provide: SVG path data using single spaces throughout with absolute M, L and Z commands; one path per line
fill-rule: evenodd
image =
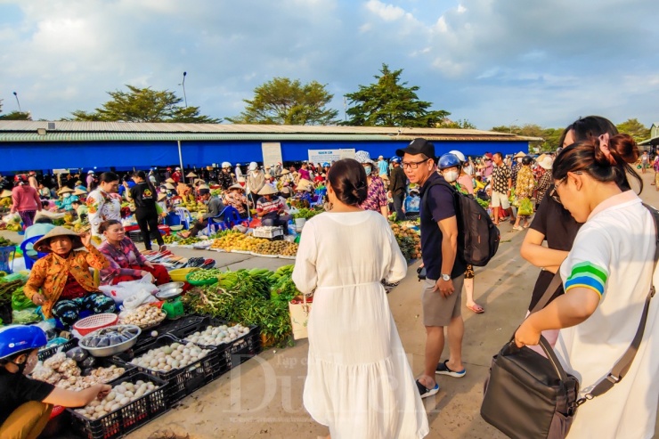
M 86 251 L 76 251 L 83 247 Z M 54 316 L 64 326 L 71 326 L 81 311 L 114 313 L 114 300 L 98 291 L 89 271 L 90 267 L 102 270 L 110 266 L 92 244 L 91 234 L 78 235 L 55 227 L 37 240 L 34 248 L 50 255 L 35 262 L 23 291 L 35 305 L 41 306 L 46 319 Z

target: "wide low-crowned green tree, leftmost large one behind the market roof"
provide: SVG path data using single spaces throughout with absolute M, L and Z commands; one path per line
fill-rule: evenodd
M 108 92 L 112 99 L 94 112 L 73 111 L 72 120 L 123 122 L 174 122 L 219 124 L 222 120 L 199 115 L 199 107 L 183 107 L 183 99 L 167 90 L 151 90 L 126 85 L 128 91 Z

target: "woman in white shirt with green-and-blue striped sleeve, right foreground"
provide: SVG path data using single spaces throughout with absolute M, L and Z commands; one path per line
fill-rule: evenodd
M 552 197 L 585 223 L 561 264 L 565 295 L 531 314 L 517 329 L 517 346 L 537 345 L 542 330 L 560 329 L 555 351 L 579 379 L 581 395 L 606 379 L 631 346 L 654 272 L 655 223 L 630 187 L 639 157 L 627 134 L 568 146 L 553 164 Z M 654 279 L 653 279 L 654 275 Z M 570 438 L 651 438 L 659 398 L 659 299 L 650 301 L 639 350 L 627 375 L 576 412 Z M 532 407 L 529 410 L 533 410 Z

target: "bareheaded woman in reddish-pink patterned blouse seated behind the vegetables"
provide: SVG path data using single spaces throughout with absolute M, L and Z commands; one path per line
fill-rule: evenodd
M 99 226 L 105 240 L 99 251 L 110 262 L 101 270 L 102 285 L 116 285 L 126 280 L 140 280 L 147 273 L 153 275 L 157 285 L 171 282 L 167 268 L 147 261 L 134 242 L 126 236 L 124 226 L 117 220 L 108 220 Z

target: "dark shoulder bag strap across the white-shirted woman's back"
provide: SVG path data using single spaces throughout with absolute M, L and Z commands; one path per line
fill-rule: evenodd
M 655 265 L 652 271 L 652 276 L 654 278 L 657 262 L 659 262 L 659 211 L 657 211 L 655 207 L 648 206 L 645 203 L 643 203 L 643 206 L 649 210 L 650 215 L 652 215 L 652 219 L 655 222 Z M 639 322 L 639 329 L 637 329 L 636 335 L 631 341 L 631 346 L 627 348 L 627 351 L 622 355 L 620 360 L 615 363 L 613 369 L 611 372 L 609 372 L 606 378 L 602 379 L 597 384 L 597 386 L 593 387 L 590 393 L 586 394 L 584 398 L 577 401 L 577 405 L 581 405 L 583 402 L 593 399 L 595 396 L 599 396 L 600 394 L 605 394 L 616 383 L 622 381 L 622 378 L 624 378 L 624 376 L 630 370 L 631 362 L 634 361 L 634 357 L 639 350 L 640 342 L 643 339 L 643 333 L 646 329 L 647 313 L 650 307 L 650 300 L 655 296 L 655 285 L 653 284 L 653 281 L 654 280 L 650 280 L 650 291 L 647 293 L 646 304 L 643 307 L 643 313 L 641 314 Z

